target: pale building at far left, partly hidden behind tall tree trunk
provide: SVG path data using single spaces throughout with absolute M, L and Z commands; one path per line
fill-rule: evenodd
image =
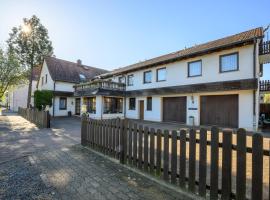
M 34 105 L 34 92 L 36 91 L 37 80 L 39 77 L 41 67 L 34 67 L 33 69 L 33 81 L 32 81 L 32 94 L 31 94 L 31 105 Z M 28 97 L 28 82 L 20 85 L 11 86 L 7 92 L 7 103 L 8 108 L 11 111 L 17 112 L 19 107 L 27 107 Z

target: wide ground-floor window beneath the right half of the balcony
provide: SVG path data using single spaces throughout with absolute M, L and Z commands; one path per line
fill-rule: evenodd
M 123 113 L 123 99 L 116 97 L 104 97 L 103 113 Z

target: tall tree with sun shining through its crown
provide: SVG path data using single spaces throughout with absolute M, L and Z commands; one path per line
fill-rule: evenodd
M 30 19 L 24 18 L 23 25 L 14 27 L 9 36 L 9 51 L 18 56 L 20 64 L 28 71 L 27 107 L 30 107 L 33 68 L 42 65 L 44 56 L 53 54 L 52 42 L 48 30 L 35 15 Z

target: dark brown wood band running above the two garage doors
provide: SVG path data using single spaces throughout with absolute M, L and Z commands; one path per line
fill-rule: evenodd
M 251 90 L 251 89 L 256 90 L 257 88 L 258 88 L 257 79 L 242 79 L 234 81 L 211 82 L 211 83 L 161 87 L 144 90 L 132 90 L 126 91 L 126 95 L 129 97 L 136 97 L 136 96 L 217 92 L 217 91 L 232 91 L 232 90 Z

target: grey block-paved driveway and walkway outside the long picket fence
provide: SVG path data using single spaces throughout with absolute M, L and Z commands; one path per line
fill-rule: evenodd
M 0 116 L 0 199 L 189 199 L 83 148 L 79 125 Z

